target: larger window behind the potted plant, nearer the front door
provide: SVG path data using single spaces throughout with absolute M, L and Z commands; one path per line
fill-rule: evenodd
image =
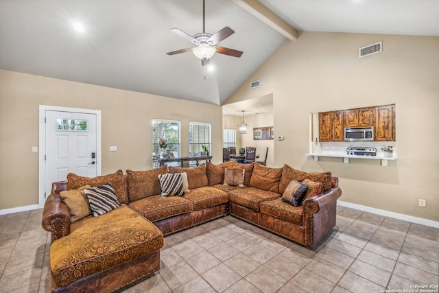
M 164 143 L 166 141 L 166 143 Z M 172 153 L 180 156 L 180 121 L 152 120 L 152 167 L 158 167 L 158 158 Z M 179 163 L 167 163 L 179 167 Z

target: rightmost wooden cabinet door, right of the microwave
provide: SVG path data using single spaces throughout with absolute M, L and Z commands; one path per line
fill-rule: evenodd
M 393 105 L 375 107 L 375 141 L 394 140 Z

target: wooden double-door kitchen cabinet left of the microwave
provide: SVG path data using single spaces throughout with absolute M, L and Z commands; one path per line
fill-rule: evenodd
M 344 141 L 343 111 L 318 113 L 318 126 L 320 141 Z

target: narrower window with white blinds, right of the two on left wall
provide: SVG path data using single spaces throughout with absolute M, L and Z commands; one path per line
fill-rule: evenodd
M 189 122 L 189 156 L 197 156 L 204 152 L 202 145 L 211 152 L 211 124 Z

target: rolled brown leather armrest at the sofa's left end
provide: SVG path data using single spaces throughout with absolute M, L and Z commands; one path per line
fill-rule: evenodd
M 52 193 L 44 204 L 41 225 L 46 231 L 51 232 L 51 242 L 70 234 L 71 219 L 69 207 L 62 201 L 59 194 L 64 189 L 65 186 L 54 183 Z

